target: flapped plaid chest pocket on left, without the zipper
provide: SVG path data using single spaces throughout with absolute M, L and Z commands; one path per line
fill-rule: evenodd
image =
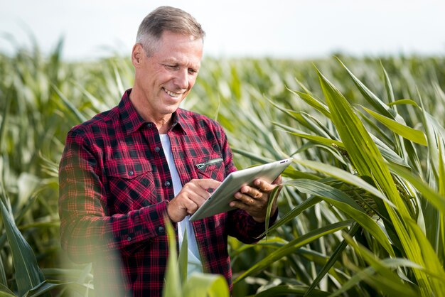
M 109 161 L 105 167 L 109 197 L 109 215 L 127 214 L 155 204 L 156 191 L 151 165 L 146 161 Z

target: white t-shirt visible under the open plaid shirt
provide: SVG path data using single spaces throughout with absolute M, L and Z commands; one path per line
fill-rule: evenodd
M 178 171 L 176 170 L 176 165 L 173 161 L 173 154 L 171 153 L 171 143 L 168 134 L 160 134 L 161 143 L 163 148 L 163 153 L 165 153 L 168 163 L 168 168 L 170 168 L 171 180 L 173 182 L 173 191 L 175 196 L 182 189 L 181 180 L 178 175 Z M 178 222 L 178 239 L 179 239 L 179 247 L 181 247 L 183 238 L 184 238 L 184 230 L 187 229 L 187 242 L 188 242 L 188 265 L 187 271 L 188 275 L 192 274 L 195 271 L 203 272 L 203 264 L 201 263 L 200 255 L 198 252 L 198 244 L 196 243 L 195 231 L 193 230 L 192 223 L 188 220 L 190 216 L 186 216 L 184 220 Z

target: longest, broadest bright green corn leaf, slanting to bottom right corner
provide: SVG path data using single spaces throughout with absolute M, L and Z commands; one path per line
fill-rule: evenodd
M 331 82 L 329 82 L 326 77 L 323 77 L 320 72 L 318 72 L 318 77 L 323 94 L 328 102 L 328 107 L 331 110 L 333 122 L 336 124 L 338 133 L 358 173 L 360 173 L 360 175 L 371 176 L 375 180 L 375 183 L 397 207 L 398 215 L 392 207 L 387 207 L 387 212 L 390 215 L 392 224 L 395 227 L 408 259 L 420 265 L 426 265 L 428 269 L 431 269 L 432 273 L 441 274 L 441 269 L 436 265 L 436 263 L 439 263 L 439 259 L 436 258 L 436 260 L 433 261 L 435 263 L 431 263 L 425 261 L 424 255 L 422 255 L 422 250 L 431 248 L 424 246 L 424 244 L 429 243 L 413 238 L 419 234 L 419 227 L 415 222 L 411 224 L 413 220 L 398 193 L 386 163 L 377 150 L 377 146 L 375 146 L 375 143 L 370 139 L 368 132 L 358 117 L 353 113 L 352 107 L 350 107 L 345 97 L 343 97 L 336 87 L 333 87 Z M 431 257 L 434 256 L 436 257 L 437 255 L 434 254 Z M 437 281 L 422 281 L 422 279 L 426 278 L 422 271 L 415 270 L 414 274 L 420 282 L 422 292 L 434 291 L 438 293 L 441 290 L 441 285 Z

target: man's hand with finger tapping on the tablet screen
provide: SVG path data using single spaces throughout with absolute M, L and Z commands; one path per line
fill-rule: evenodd
M 172 222 L 181 222 L 187 215 L 192 215 L 210 197 L 208 189 L 215 189 L 221 184 L 210 178 L 191 180 L 181 192 L 167 205 L 168 217 Z

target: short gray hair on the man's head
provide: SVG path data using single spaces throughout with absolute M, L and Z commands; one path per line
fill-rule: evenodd
M 190 13 L 171 6 L 160 6 L 151 11 L 139 25 L 136 43 L 141 43 L 146 55 L 151 55 L 158 48 L 164 31 L 184 34 L 193 39 L 204 40 L 205 36 L 200 23 Z

